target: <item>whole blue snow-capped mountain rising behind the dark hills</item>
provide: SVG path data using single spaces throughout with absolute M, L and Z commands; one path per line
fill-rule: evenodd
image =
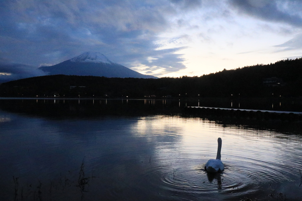
M 157 78 L 152 75 L 138 73 L 114 61 L 110 61 L 105 55 L 99 52 L 85 52 L 62 63 L 53 66 L 41 66 L 38 69 L 47 72 L 49 75 Z

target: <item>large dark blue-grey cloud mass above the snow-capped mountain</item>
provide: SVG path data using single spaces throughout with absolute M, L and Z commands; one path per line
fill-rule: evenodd
M 154 44 L 156 34 L 169 28 L 165 15 L 176 13 L 173 5 L 189 8 L 199 4 L 159 0 L 4 0 L 0 8 L 0 57 L 39 67 L 95 51 L 124 65 L 131 61 L 146 63 L 150 56 L 159 57 L 161 51 Z M 182 59 L 175 49 L 165 57 L 168 60 L 158 63 L 160 68 L 168 64 L 169 71 L 171 67 L 174 71 L 180 68 Z

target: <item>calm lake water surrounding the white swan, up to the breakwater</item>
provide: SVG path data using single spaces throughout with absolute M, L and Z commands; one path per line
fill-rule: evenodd
M 1 100 L 0 200 L 302 200 L 300 123 L 159 102 Z M 207 174 L 218 137 L 225 170 Z

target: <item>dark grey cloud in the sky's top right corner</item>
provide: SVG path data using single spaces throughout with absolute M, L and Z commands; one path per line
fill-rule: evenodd
M 302 26 L 300 0 L 229 0 L 229 2 L 240 14 L 296 27 Z

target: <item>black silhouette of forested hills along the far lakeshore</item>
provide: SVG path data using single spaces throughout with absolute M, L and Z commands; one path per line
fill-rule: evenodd
M 85 87 L 81 87 L 85 86 Z M 6 97 L 299 97 L 302 58 L 223 70 L 203 76 L 107 78 L 49 75 L 2 83 Z

